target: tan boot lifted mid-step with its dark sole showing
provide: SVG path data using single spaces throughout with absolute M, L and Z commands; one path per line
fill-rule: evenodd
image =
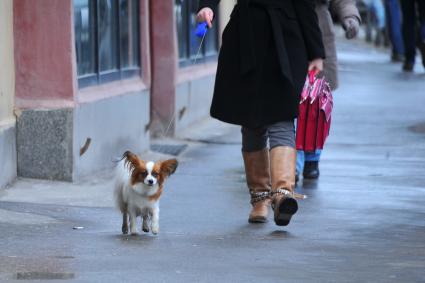
M 296 150 L 277 146 L 270 150 L 272 208 L 276 225 L 286 226 L 298 210 L 295 198 L 305 198 L 294 193 Z

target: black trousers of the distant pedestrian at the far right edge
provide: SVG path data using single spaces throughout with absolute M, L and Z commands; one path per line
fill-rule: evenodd
M 425 27 L 425 0 L 401 0 L 403 13 L 403 42 L 406 62 L 414 62 L 416 55 L 416 35 L 420 34 L 421 40 L 425 40 L 423 32 Z M 417 29 L 418 18 L 420 29 Z M 419 32 L 418 32 L 419 31 Z

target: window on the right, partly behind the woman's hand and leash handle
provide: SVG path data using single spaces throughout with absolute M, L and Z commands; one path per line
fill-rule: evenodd
M 175 0 L 177 38 L 179 44 L 179 64 L 187 66 L 193 63 L 198 52 L 201 39 L 195 35 L 196 12 L 198 2 L 194 0 Z M 215 16 L 213 27 L 208 30 L 202 43 L 197 63 L 217 58 L 218 52 L 218 21 Z

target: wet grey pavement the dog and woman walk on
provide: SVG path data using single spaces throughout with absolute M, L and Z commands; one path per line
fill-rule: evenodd
M 300 182 L 309 198 L 289 226 L 247 223 L 239 129 L 207 120 L 173 141 L 189 146 L 158 236 L 120 234 L 108 172 L 1 191 L 0 281 L 425 282 L 425 73 L 339 49 L 322 175 Z

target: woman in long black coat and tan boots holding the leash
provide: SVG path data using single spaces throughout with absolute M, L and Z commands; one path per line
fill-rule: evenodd
M 211 26 L 219 2 L 201 0 L 198 21 Z M 239 0 L 223 31 L 211 116 L 242 126 L 251 223 L 266 222 L 270 204 L 277 225 L 298 210 L 294 119 L 325 57 L 314 2 Z

